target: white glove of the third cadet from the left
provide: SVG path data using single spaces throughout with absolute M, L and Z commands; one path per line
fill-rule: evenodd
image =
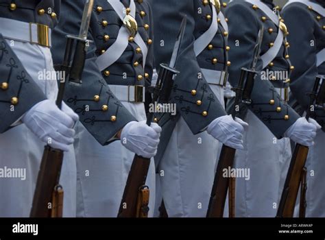
M 219 140 L 224 145 L 234 149 L 243 149 L 243 132 L 248 127 L 248 123 L 231 115 L 218 117 L 209 125 L 206 132 Z

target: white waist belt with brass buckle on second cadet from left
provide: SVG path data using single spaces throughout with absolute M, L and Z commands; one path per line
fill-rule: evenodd
M 110 91 L 119 99 L 119 101 L 145 102 L 145 87 L 141 85 L 108 85 Z

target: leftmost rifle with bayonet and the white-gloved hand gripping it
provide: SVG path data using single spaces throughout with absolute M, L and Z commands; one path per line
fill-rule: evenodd
M 94 0 L 86 1 L 79 36 L 67 36 L 64 60 L 58 70 L 65 71 L 68 81 L 60 83 L 56 100 L 57 107 L 51 105 L 49 100 L 45 100 L 34 106 L 32 112 L 27 112 L 23 119 L 27 125 L 35 129 L 41 139 L 47 141 L 47 138 L 51 138 L 51 143 L 48 142 L 49 145 L 45 146 L 40 163 L 30 217 L 62 217 L 63 189 L 59 184 L 63 160 L 62 150 L 67 151 L 68 145 L 73 143 L 74 130 L 71 128 L 78 119 L 62 99 L 65 84 L 82 84 L 81 77 L 88 47 L 87 34 L 93 3 Z M 60 112 L 59 108 L 65 112 L 65 115 Z M 43 116 L 43 119 L 40 116 Z

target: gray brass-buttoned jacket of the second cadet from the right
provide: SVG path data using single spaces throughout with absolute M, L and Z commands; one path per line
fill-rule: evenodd
M 274 5 L 269 4 L 269 8 Z M 229 58 L 232 62 L 229 71 L 229 81 L 232 86 L 237 86 L 241 68 L 250 68 L 253 60 L 253 50 L 256 44 L 258 31 L 263 25 L 263 43 L 261 55 L 274 43 L 278 27 L 268 19 L 262 10 L 253 8 L 251 3 L 233 1 L 226 9 L 228 17 L 230 46 Z M 262 62 L 258 61 L 258 71 L 291 71 L 293 67 L 289 62 L 287 47 L 283 43 L 276 58 L 262 69 Z M 274 89 L 289 86 L 289 82 L 262 80 L 262 75 L 257 75 L 252 90 L 252 104 L 248 108 L 254 112 L 278 139 L 282 138 L 285 131 L 298 119 L 299 115 L 285 102 Z

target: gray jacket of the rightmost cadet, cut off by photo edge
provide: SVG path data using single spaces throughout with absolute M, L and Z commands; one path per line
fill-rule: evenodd
M 312 1 L 325 8 L 325 1 Z M 290 59 L 296 66 L 291 75 L 290 104 L 302 113 L 309 107 L 309 96 L 306 93 L 313 89 L 316 75 L 325 75 L 325 62 L 316 66 L 316 54 L 325 48 L 325 18 L 302 3 L 291 3 L 282 11 L 282 16 L 290 32 Z M 316 109 L 314 113 L 313 118 L 325 131 L 325 110 Z

